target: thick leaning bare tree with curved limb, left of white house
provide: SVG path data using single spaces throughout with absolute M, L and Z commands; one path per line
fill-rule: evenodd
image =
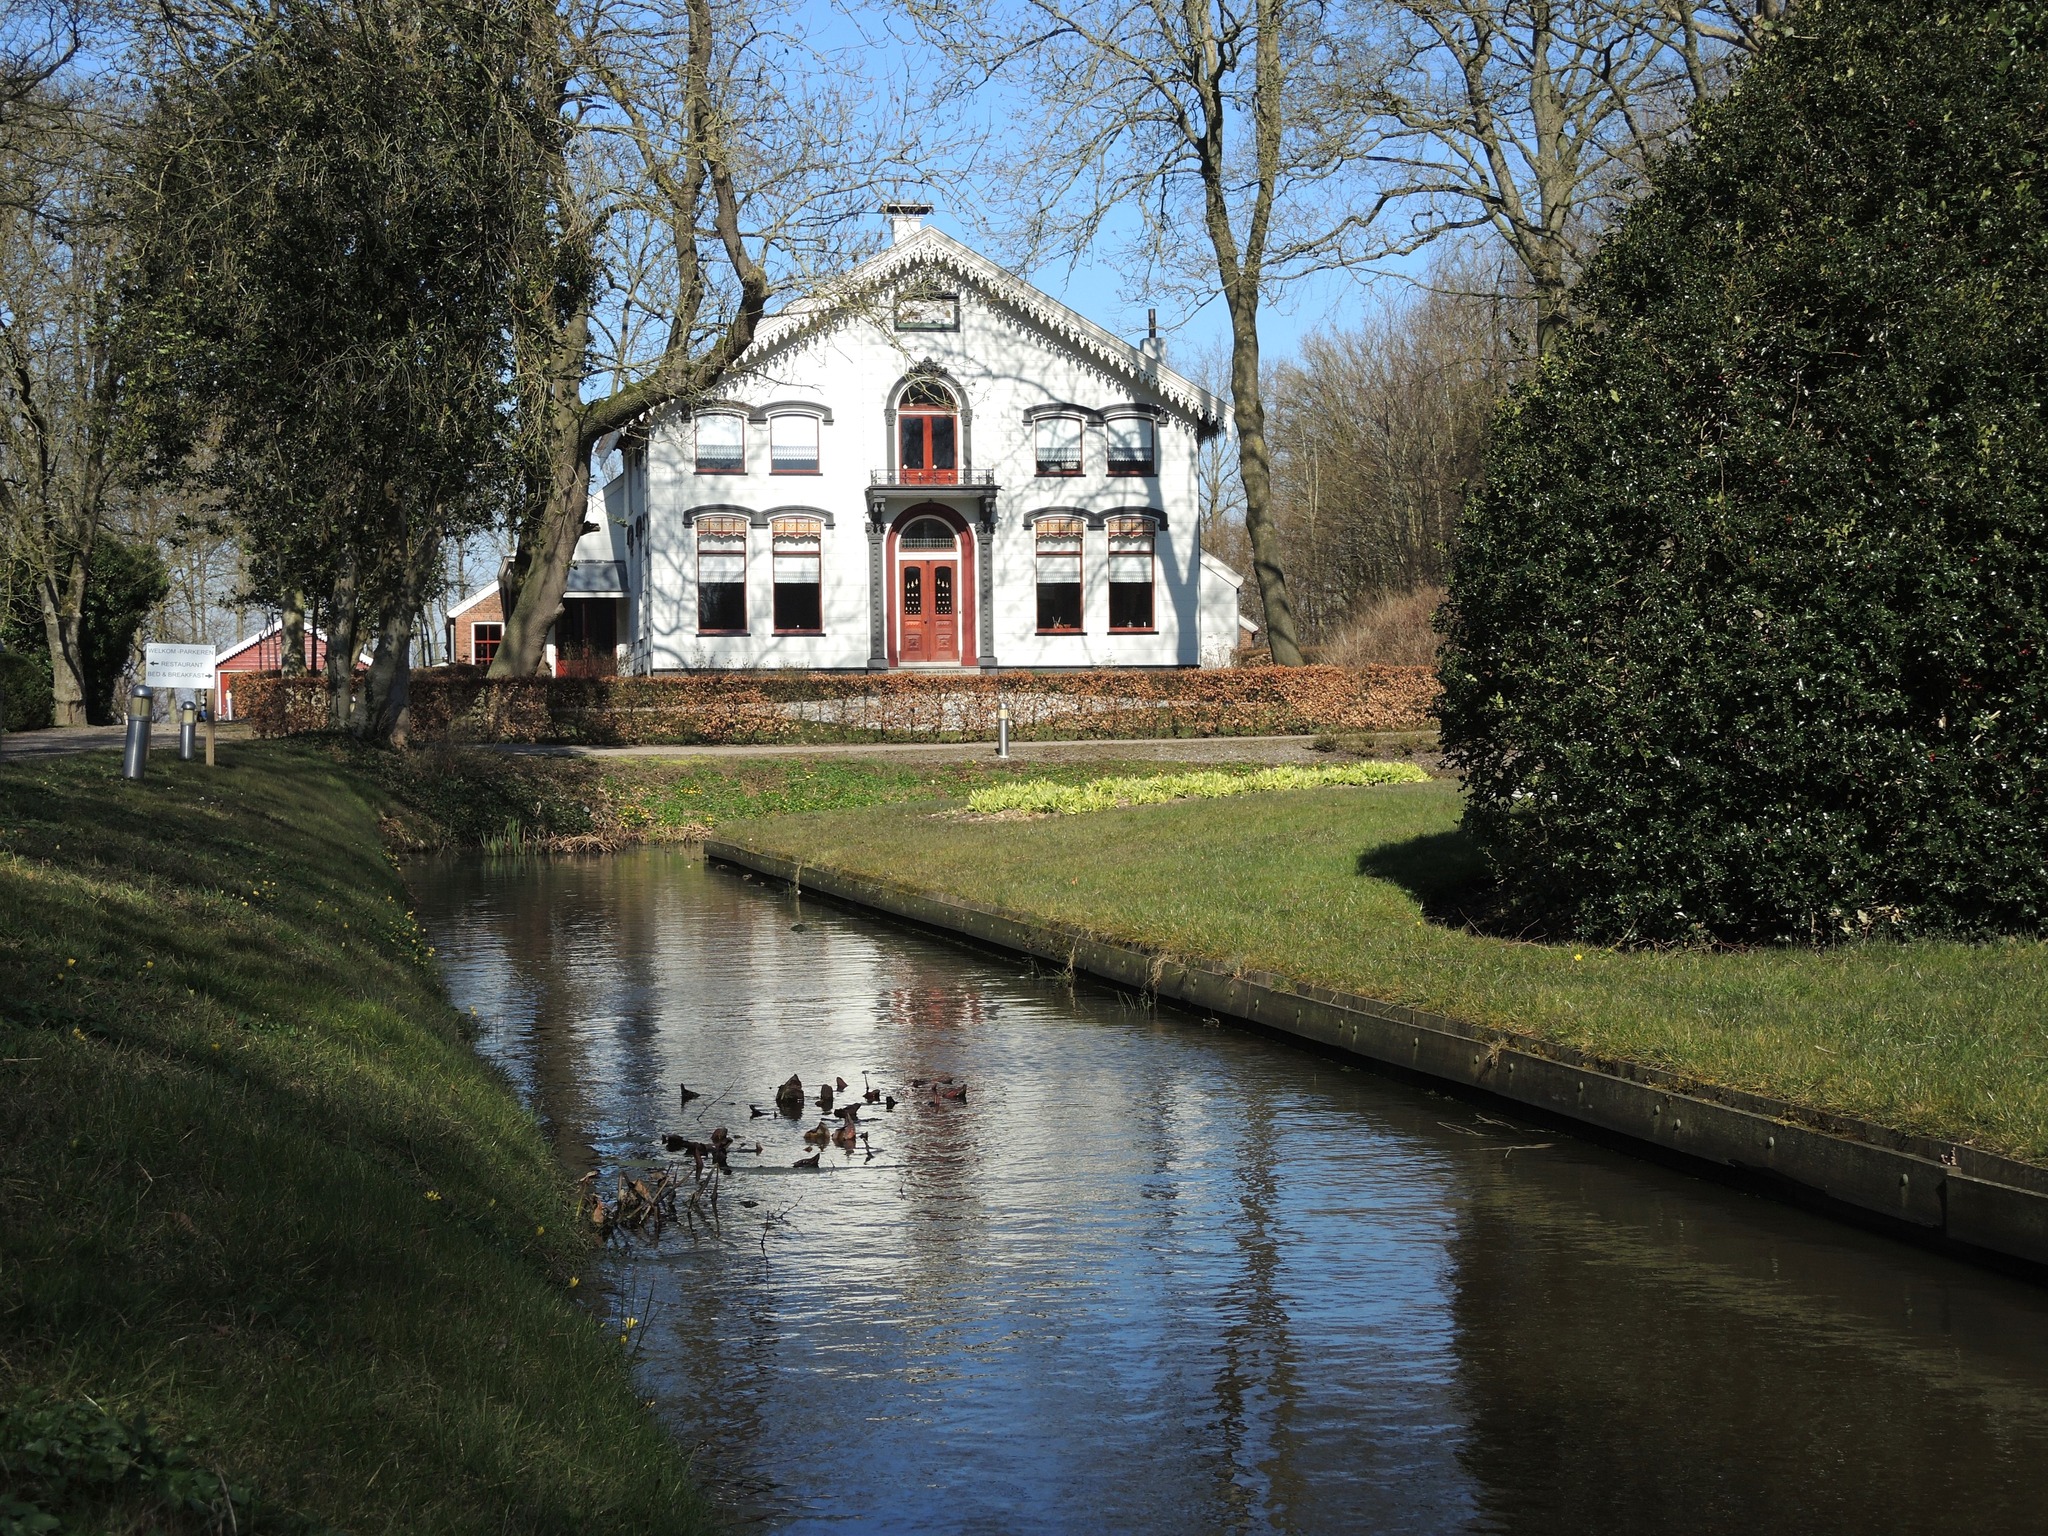
M 592 449 L 709 389 L 772 297 L 860 248 L 860 215 L 905 164 L 907 119 L 807 47 L 797 12 L 590 0 L 545 27 L 532 53 L 555 217 L 518 338 L 530 496 L 492 676 L 541 662 Z

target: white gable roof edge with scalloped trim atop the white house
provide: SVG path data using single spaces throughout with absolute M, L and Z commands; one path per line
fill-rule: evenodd
M 1110 373 L 1122 375 L 1130 383 L 1159 395 L 1169 406 L 1194 418 L 1204 436 L 1223 430 L 1227 420 L 1223 399 L 932 225 L 924 225 L 918 233 L 870 256 L 817 293 L 768 315 L 760 326 L 754 346 L 739 356 L 733 371 L 741 373 L 756 367 L 784 346 L 854 313 L 874 293 L 903 279 L 915 279 L 934 270 L 944 270 L 971 283 L 985 297 L 1016 309 Z

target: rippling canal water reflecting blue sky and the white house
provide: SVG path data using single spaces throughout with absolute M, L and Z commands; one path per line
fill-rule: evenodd
M 575 1171 L 762 1145 L 586 1282 L 743 1528 L 2048 1528 L 2040 1288 L 680 852 L 410 881 Z

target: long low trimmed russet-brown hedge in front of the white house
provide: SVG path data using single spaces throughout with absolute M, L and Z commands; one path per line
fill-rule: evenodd
M 238 715 L 258 735 L 326 729 L 322 678 L 248 678 Z M 582 745 L 993 741 L 1010 705 L 1020 741 L 1413 731 L 1430 723 L 1432 668 L 1214 672 L 702 672 L 680 678 L 412 678 L 420 739 Z

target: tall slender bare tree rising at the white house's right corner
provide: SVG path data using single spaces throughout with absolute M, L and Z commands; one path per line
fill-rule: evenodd
M 999 182 L 1024 260 L 1110 238 L 1147 279 L 1223 299 L 1251 567 L 1274 659 L 1298 664 L 1260 309 L 1288 279 L 1370 250 L 1372 123 L 1335 88 L 1364 47 L 1346 0 L 985 0 L 967 12 L 911 0 L 911 14 L 950 51 L 956 88 L 1024 88 L 1032 154 Z

